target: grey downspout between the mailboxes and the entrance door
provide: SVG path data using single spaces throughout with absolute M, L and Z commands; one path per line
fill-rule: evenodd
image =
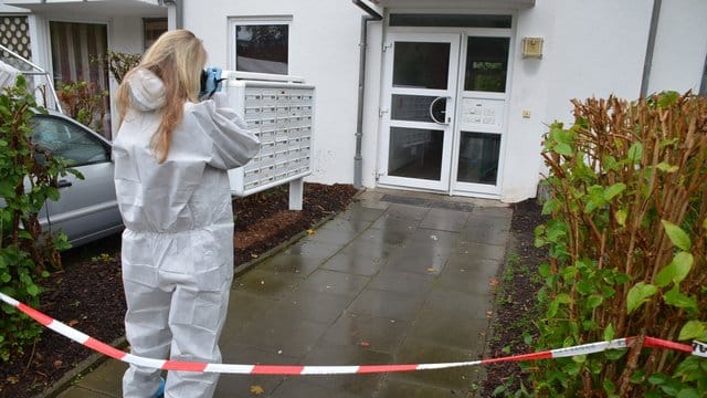
M 366 87 L 366 46 L 368 36 L 368 22 L 380 21 L 383 15 L 368 7 L 360 0 L 351 0 L 354 4 L 366 11 L 368 15 L 361 17 L 361 38 L 359 42 L 359 64 L 358 64 L 358 109 L 356 115 L 356 155 L 354 156 L 354 187 L 361 189 L 363 186 L 362 169 L 363 156 L 361 146 L 363 140 L 363 95 Z

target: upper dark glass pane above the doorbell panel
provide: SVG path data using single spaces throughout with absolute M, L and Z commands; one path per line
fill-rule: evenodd
M 468 38 L 465 91 L 506 91 L 509 44 L 509 38 Z

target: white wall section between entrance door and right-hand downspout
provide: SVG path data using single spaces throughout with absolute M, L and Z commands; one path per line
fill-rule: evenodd
M 519 12 L 502 200 L 535 197 L 542 134 L 553 121 L 572 122 L 570 100 L 639 96 L 652 4 L 544 0 Z M 536 35 L 545 38 L 544 57 L 524 60 L 520 40 Z

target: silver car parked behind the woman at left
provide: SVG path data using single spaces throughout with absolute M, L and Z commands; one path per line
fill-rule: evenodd
M 63 231 L 81 245 L 123 230 L 113 185 L 110 142 L 57 112 L 32 117 L 34 144 L 53 156 L 73 161 L 84 179 L 66 175 L 59 180 L 59 201 L 48 200 L 40 214 L 46 231 Z

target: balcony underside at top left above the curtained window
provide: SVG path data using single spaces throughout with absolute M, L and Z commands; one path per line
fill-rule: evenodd
M 167 7 L 160 0 L 6 0 L 4 3 L 39 13 L 167 17 Z

